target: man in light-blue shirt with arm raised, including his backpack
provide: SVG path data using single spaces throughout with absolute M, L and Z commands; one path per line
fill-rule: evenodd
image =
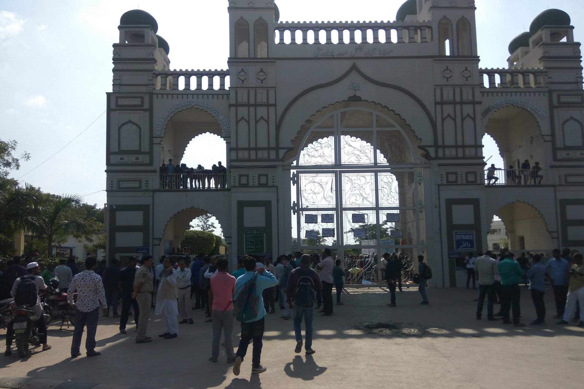
M 254 258 L 244 260 L 245 274 L 235 281 L 234 301 L 239 308 L 237 315 L 241 321 L 241 339 L 235 353 L 233 374 L 239 376 L 239 369 L 248 351 L 249 341 L 253 339 L 252 373 L 263 373 L 267 369 L 260 364 L 262 357 L 262 338 L 265 328 L 264 316 L 266 308 L 263 307 L 262 292 L 278 284 L 276 276 L 266 272 L 264 268 L 256 271 Z M 251 317 L 248 319 L 248 317 Z

